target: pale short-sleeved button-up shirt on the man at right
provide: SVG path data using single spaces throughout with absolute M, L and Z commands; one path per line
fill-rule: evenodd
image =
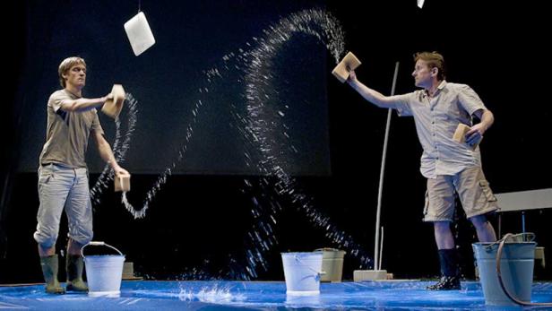
M 474 150 L 467 143 L 453 141 L 456 127 L 472 125 L 471 116 L 479 109 L 487 109 L 478 94 L 466 84 L 441 82 L 433 98 L 426 90 L 396 95 L 399 116 L 414 117 L 419 143 L 424 152 L 420 172 L 424 177 L 455 175 L 461 170 L 481 166 L 479 147 Z

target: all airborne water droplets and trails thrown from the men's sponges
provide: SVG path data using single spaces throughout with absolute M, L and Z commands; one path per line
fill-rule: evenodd
M 313 30 L 310 25 L 318 26 L 323 30 L 323 35 L 318 31 Z M 296 32 L 303 32 L 319 39 L 321 42 L 325 42 L 327 39 L 326 48 L 328 48 L 332 56 L 334 56 L 336 63 L 339 61 L 340 56 L 344 50 L 344 39 L 341 26 L 339 22 L 329 13 L 322 10 L 310 9 L 294 13 L 289 17 L 283 18 L 280 22 L 272 25 L 269 30 L 263 30 L 264 36 L 261 39 L 254 38 L 257 48 L 252 51 L 245 52 L 239 49 L 239 53 L 229 53 L 223 56 L 222 59 L 225 62 L 224 68 L 227 71 L 236 69 L 242 71 L 245 74 L 244 81 L 238 80 L 238 82 L 245 82 L 246 84 L 246 117 L 240 116 L 239 113 L 235 113 L 233 117 L 238 121 L 238 130 L 247 137 L 246 145 L 253 147 L 254 152 L 258 152 L 261 155 L 261 161 L 253 162 L 252 156 L 245 153 L 246 165 L 256 167 L 264 176 L 274 176 L 278 182 L 275 187 L 270 187 L 272 183 L 268 177 L 263 177 L 260 180 L 259 186 L 263 190 L 261 197 L 253 197 L 254 209 L 252 213 L 256 223 L 254 228 L 248 233 L 250 249 L 246 250 L 246 268 L 245 270 L 239 265 L 236 259 L 230 257 L 229 259 L 229 272 L 226 273 L 227 277 L 241 278 L 244 280 L 250 280 L 257 277 L 257 268 L 263 267 L 263 270 L 267 270 L 267 265 L 263 259 L 263 254 L 270 248 L 277 244 L 278 241 L 274 237 L 272 224 L 276 224 L 276 217 L 281 211 L 282 207 L 278 203 L 277 197 L 280 195 L 288 195 L 291 198 L 292 203 L 298 206 L 298 209 L 306 213 L 307 219 L 315 223 L 317 226 L 326 229 L 327 238 L 331 238 L 337 245 L 343 246 L 349 250 L 351 255 L 359 258 L 361 264 L 360 267 L 365 267 L 370 262 L 370 258 L 358 247 L 349 235 L 346 235 L 343 231 L 337 229 L 330 223 L 329 217 L 323 216 L 320 212 L 315 211 L 311 199 L 307 198 L 305 194 L 301 194 L 298 191 L 298 186 L 295 178 L 289 177 L 289 175 L 282 168 L 280 159 L 274 156 L 272 151 L 272 144 L 275 143 L 269 139 L 272 133 L 278 130 L 278 123 L 267 122 L 268 107 L 264 105 L 264 99 L 268 99 L 269 96 L 264 92 L 263 87 L 269 85 L 270 79 L 273 78 L 270 73 L 271 59 L 275 56 L 278 49 L 291 38 Z M 250 43 L 246 43 L 251 47 Z M 237 64 L 231 65 L 230 61 L 235 60 Z M 245 69 L 239 65 L 244 65 Z M 220 70 L 218 68 L 211 68 L 205 72 L 207 76 L 207 82 L 211 83 L 217 78 L 222 78 Z M 208 88 L 202 88 L 200 93 L 206 95 L 209 92 Z M 154 186 L 147 193 L 144 200 L 142 209 L 136 211 L 134 207 L 128 203 L 125 194 L 123 194 L 122 202 L 125 203 L 126 209 L 134 215 L 134 218 L 142 218 L 145 216 L 145 212 L 148 210 L 149 204 L 160 190 L 161 186 L 167 182 L 167 177 L 172 174 L 172 169 L 185 157 L 187 151 L 187 143 L 193 134 L 193 125 L 196 124 L 199 108 L 203 106 L 202 100 L 197 100 L 195 107 L 192 110 L 192 121 L 186 127 L 185 143 L 178 150 L 178 157 L 175 162 L 169 168 L 160 175 L 155 182 Z M 233 108 L 236 108 L 233 105 Z M 284 114 L 278 111 L 279 117 L 284 117 Z M 270 117 L 270 116 L 269 116 Z M 134 119 L 135 122 L 135 119 Z M 241 126 L 239 126 L 241 124 Z M 129 128 L 133 127 L 129 124 Z M 284 128 L 286 125 L 282 125 Z M 133 127 L 134 129 L 134 127 Z M 125 143 L 122 147 L 127 146 L 130 140 L 131 131 L 128 131 L 125 135 Z M 117 124 L 116 143 L 114 146 L 118 148 L 119 137 L 119 125 Z M 289 138 L 289 136 L 286 136 Z M 128 142 L 126 140 L 128 138 Z M 121 148 L 121 151 L 117 152 L 117 160 L 123 160 L 126 149 Z M 291 149 L 297 152 L 294 146 Z M 112 171 L 108 175 L 110 169 L 106 167 L 104 172 L 99 178 L 96 186 L 92 189 L 92 194 L 97 196 L 101 193 L 101 190 L 107 187 L 108 180 L 113 178 Z M 246 179 L 246 191 L 251 191 L 253 185 Z M 97 199 L 99 202 L 99 199 Z M 222 275 L 222 271 L 219 272 Z M 194 279 L 212 279 L 208 273 L 198 271 L 194 269 L 190 273 L 183 274 L 183 279 L 188 276 L 192 276 Z M 199 279 L 198 279 L 199 277 Z

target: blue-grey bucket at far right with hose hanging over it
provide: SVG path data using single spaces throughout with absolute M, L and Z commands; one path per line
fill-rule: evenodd
M 474 243 L 473 253 L 487 306 L 518 306 L 506 296 L 496 272 L 498 243 Z M 535 259 L 535 242 L 506 242 L 500 258 L 500 275 L 513 297 L 530 301 Z

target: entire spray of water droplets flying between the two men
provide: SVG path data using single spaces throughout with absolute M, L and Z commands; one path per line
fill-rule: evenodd
M 186 126 L 185 140 L 178 149 L 177 159 L 165 169 L 157 181 L 146 194 L 142 209 L 136 210 L 122 195 L 122 203 L 131 212 L 135 219 L 143 218 L 155 195 L 160 191 L 161 186 L 167 182 L 172 170 L 177 163 L 185 158 L 188 143 L 194 134 L 194 125 L 201 112 L 204 103 L 209 101 L 210 89 L 216 89 L 216 83 L 221 81 L 232 81 L 244 85 L 243 104 L 231 104 L 232 117 L 237 131 L 241 134 L 244 143 L 244 159 L 246 165 L 255 168 L 262 176 L 258 183 L 249 179 L 244 180 L 242 191 L 251 195 L 252 216 L 254 225 L 247 233 L 246 251 L 244 255 L 229 255 L 227 271 L 206 272 L 205 269 L 192 269 L 180 276 L 181 280 L 212 280 L 212 279 L 239 279 L 252 280 L 258 277 L 259 269 L 268 270 L 264 255 L 278 244 L 273 226 L 278 222 L 282 205 L 280 202 L 285 199 L 290 202 L 299 212 L 306 215 L 315 226 L 322 228 L 335 246 L 349 251 L 349 255 L 358 258 L 359 268 L 367 268 L 371 264 L 370 257 L 359 247 L 351 236 L 341 229 L 332 225 L 330 218 L 315 209 L 313 198 L 304 194 L 298 185 L 296 178 L 289 176 L 286 172 L 286 159 L 281 157 L 284 149 L 298 152 L 297 148 L 289 141 L 286 125 L 285 108 L 276 107 L 272 97 L 279 92 L 273 87 L 274 75 L 272 66 L 274 60 L 289 39 L 294 36 L 313 36 L 317 39 L 335 59 L 339 62 L 344 54 L 344 34 L 341 25 L 332 14 L 320 9 L 308 9 L 280 19 L 263 30 L 263 36 L 254 37 L 252 42 L 246 42 L 246 50 L 239 49 L 222 57 L 222 64 L 212 67 L 204 72 L 205 86 L 198 90 L 199 97 L 192 109 L 192 120 Z M 237 77 L 236 77 L 237 74 Z M 134 99 L 133 99 L 134 100 Z M 131 103 L 133 101 L 131 100 Z M 135 100 L 134 100 L 135 103 Z M 127 105 L 130 107 L 130 105 Z M 132 108 L 131 108 L 132 109 Z M 129 111 L 130 116 L 135 116 Z M 131 117 L 133 118 L 133 117 Z M 135 122 L 135 117 L 134 117 Z M 125 138 L 130 139 L 131 128 L 134 123 L 127 126 L 129 130 Z M 115 150 L 117 160 L 123 160 L 125 151 L 128 149 L 128 142 L 118 144 L 119 125 L 117 125 Z M 101 189 L 106 188 L 109 180 L 113 178 L 109 168 L 104 169 L 92 194 L 99 202 Z M 242 257 L 243 256 L 243 257 Z

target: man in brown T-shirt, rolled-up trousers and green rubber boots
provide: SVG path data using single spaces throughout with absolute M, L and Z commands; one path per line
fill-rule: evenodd
M 65 210 L 69 227 L 67 243 L 66 290 L 87 291 L 82 281 L 81 248 L 92 239 L 92 206 L 85 153 L 90 134 L 100 157 L 117 176 L 128 175 L 121 168 L 103 136 L 98 111 L 108 94 L 96 99 L 82 97 L 86 83 L 86 63 L 81 57 L 68 57 L 59 65 L 62 90 L 47 101 L 46 143 L 39 157 L 39 212 L 33 237 L 39 244 L 40 265 L 47 293 L 63 294 L 57 281 L 56 240 L 61 215 Z

